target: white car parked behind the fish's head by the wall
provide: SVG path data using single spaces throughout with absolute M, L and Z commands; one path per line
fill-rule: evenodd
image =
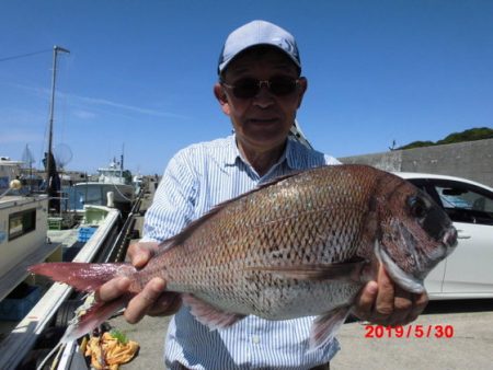
M 493 188 L 460 177 L 395 174 L 428 193 L 458 231 L 456 251 L 425 279 L 429 298 L 493 298 Z

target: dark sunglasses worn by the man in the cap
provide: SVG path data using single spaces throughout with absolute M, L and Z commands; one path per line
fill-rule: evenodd
M 244 78 L 238 80 L 234 84 L 228 84 L 225 81 L 220 81 L 221 85 L 227 89 L 231 89 L 233 95 L 238 99 L 252 99 L 259 94 L 263 85 L 276 96 L 285 96 L 295 92 L 298 85 L 299 79 L 293 79 L 290 77 L 273 77 L 271 80 L 256 80 L 252 78 Z

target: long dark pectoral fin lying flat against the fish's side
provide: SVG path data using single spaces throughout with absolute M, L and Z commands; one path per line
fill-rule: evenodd
M 363 268 L 366 261 L 343 262 L 328 265 L 301 265 L 301 266 L 262 266 L 248 269 L 271 271 L 291 279 L 300 280 L 337 280 L 360 282 Z

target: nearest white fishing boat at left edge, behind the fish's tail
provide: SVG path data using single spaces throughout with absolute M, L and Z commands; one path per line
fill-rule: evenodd
M 76 212 L 77 226 L 51 229 L 49 196 L 22 186 L 20 163 L 0 161 L 0 369 L 31 368 L 23 361 L 36 339 L 65 329 L 79 303 L 70 287 L 32 276 L 27 267 L 107 258 L 126 240 L 121 212 L 104 206 L 85 205 Z

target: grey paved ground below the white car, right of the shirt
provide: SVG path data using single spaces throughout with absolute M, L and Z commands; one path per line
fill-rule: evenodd
M 412 323 L 410 338 L 366 338 L 365 325 L 344 325 L 331 369 L 493 369 L 493 300 L 432 302 L 428 312 Z M 431 327 L 431 337 L 417 338 L 417 325 Z M 446 326 L 451 337 L 433 335 Z

